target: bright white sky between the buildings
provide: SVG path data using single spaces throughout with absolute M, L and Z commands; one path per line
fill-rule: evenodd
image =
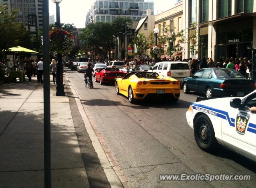
M 164 12 L 165 10 L 172 8 L 176 2 L 176 0 L 153 1 L 154 14 L 159 14 L 162 11 Z M 93 2 L 94 0 L 62 0 L 60 3 L 60 22 L 64 24 L 74 24 L 76 28 L 84 28 L 86 14 L 93 5 Z M 49 14 L 54 14 L 56 21 L 56 5 L 51 0 L 49 0 Z

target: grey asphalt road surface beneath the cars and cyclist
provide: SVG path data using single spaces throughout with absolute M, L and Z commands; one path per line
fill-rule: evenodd
M 128 178 L 138 187 L 255 187 L 256 163 L 226 150 L 214 154 L 196 145 L 185 113 L 196 93 L 184 94 L 176 104 L 161 99 L 129 103 L 115 93 L 114 85 L 85 88 L 84 76 L 75 71 L 66 75 L 82 97 L 114 157 Z M 160 181 L 160 174 L 249 174 L 250 181 Z

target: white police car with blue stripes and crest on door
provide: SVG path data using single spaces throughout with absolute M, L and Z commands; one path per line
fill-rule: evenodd
M 256 91 L 192 103 L 186 118 L 202 150 L 213 150 L 218 142 L 256 161 L 256 112 L 251 107 L 256 107 Z

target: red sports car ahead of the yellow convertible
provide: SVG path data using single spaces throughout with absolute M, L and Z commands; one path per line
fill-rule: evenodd
M 99 81 L 100 85 L 114 81 L 118 76 L 124 77 L 127 72 L 121 71 L 118 68 L 102 68 L 102 69 L 95 69 L 95 81 Z

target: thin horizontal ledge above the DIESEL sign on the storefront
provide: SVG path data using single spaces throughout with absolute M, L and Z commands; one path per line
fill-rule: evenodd
M 204 26 L 208 26 L 209 24 L 228 24 L 230 22 L 238 22 L 238 21 L 242 21 L 242 20 L 246 20 L 248 18 L 252 18 L 252 17 L 256 17 L 256 12 L 254 13 L 244 13 L 241 12 L 239 14 L 234 14 L 232 16 L 227 16 L 224 18 L 219 18 L 217 20 L 213 20 L 210 22 L 204 22 L 202 24 L 199 24 L 199 27 L 204 27 Z

